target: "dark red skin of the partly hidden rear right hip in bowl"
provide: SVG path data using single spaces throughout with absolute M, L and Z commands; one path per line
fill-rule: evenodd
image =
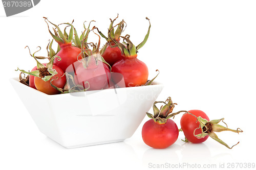
M 109 44 L 102 57 L 111 66 L 122 59 L 122 52 L 118 47 L 111 47 Z

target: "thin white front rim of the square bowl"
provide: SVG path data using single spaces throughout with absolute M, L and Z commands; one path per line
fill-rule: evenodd
M 40 93 L 41 95 L 45 95 L 45 96 L 59 96 L 61 93 L 59 93 L 59 94 L 46 94 L 46 93 L 44 93 L 44 92 L 41 92 L 41 91 L 39 91 L 39 90 L 37 90 L 37 89 L 34 89 L 34 88 L 32 88 L 32 87 L 29 87 L 29 86 L 27 86 L 27 85 L 25 85 L 25 84 L 23 84 L 23 83 L 20 83 L 19 82 L 19 78 L 18 77 L 14 77 L 14 78 L 10 78 L 9 79 L 10 81 L 12 81 L 12 82 L 15 82 L 15 83 L 19 83 L 19 84 L 21 84 L 21 85 L 24 85 L 24 86 L 26 86 L 25 88 L 27 88 L 27 89 L 29 89 L 29 90 L 35 90 L 36 92 L 38 92 L 38 93 Z M 159 83 L 159 82 L 157 82 L 157 81 L 153 81 L 155 84 L 153 84 L 153 85 L 148 85 L 148 86 L 135 86 L 135 87 L 120 87 L 120 88 L 115 88 L 115 89 L 126 89 L 126 88 L 129 88 L 129 89 L 134 89 L 134 88 L 136 88 L 136 89 L 138 89 L 138 88 L 150 88 L 151 86 L 159 86 L 159 87 L 161 87 L 161 86 L 164 86 L 162 83 Z M 113 89 L 102 89 L 102 90 L 113 90 Z M 90 90 L 90 91 L 79 91 L 79 92 L 73 92 L 73 93 L 92 93 L 92 91 L 93 92 L 98 92 L 98 91 L 102 91 L 102 90 Z M 61 95 L 69 95 L 70 93 L 62 93 Z

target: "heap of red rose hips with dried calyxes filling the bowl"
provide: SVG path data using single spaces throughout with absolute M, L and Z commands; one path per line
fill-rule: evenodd
M 78 36 L 72 23 L 66 25 L 63 31 L 59 25 L 50 22 L 44 17 L 49 33 L 53 40 L 48 43 L 48 57 L 39 57 L 31 54 L 37 65 L 31 71 L 22 71 L 28 74 L 20 82 L 29 85 L 47 94 L 68 93 L 86 90 L 101 90 L 118 87 L 134 87 L 147 84 L 148 69 L 145 63 L 137 59 L 138 50 L 146 43 L 150 34 L 151 24 L 144 40 L 135 46 L 130 35 L 121 36 L 126 27 L 124 20 L 114 26 L 115 19 L 110 19 L 111 24 L 108 36 L 102 34 L 98 28 L 86 28 Z M 146 18 L 148 21 L 149 19 Z M 54 26 L 53 32 L 49 25 Z M 67 28 L 70 28 L 67 33 Z M 98 31 L 98 34 L 95 33 Z M 98 43 L 87 42 L 89 33 L 93 32 L 99 37 Z M 100 50 L 100 36 L 106 40 Z M 121 42 L 120 40 L 123 40 Z M 58 43 L 57 52 L 52 49 L 53 41 Z M 91 49 L 91 48 L 92 49 Z M 48 63 L 40 63 L 39 59 L 48 59 Z

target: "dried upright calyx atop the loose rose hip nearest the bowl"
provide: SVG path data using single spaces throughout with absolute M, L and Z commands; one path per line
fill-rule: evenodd
M 164 105 L 162 105 L 160 107 L 160 109 L 158 109 L 156 107 L 157 103 L 163 103 Z M 175 115 L 181 113 L 181 112 L 186 112 L 185 110 L 181 110 L 178 111 L 176 113 L 172 113 L 174 106 L 177 105 L 176 103 L 173 103 L 172 99 L 169 97 L 167 98 L 167 100 L 165 102 L 154 102 L 153 104 L 153 111 L 154 111 L 154 115 L 152 115 L 151 113 L 146 112 L 147 116 L 152 118 L 154 120 L 154 122 L 158 123 L 158 124 L 165 124 L 167 122 L 168 118 L 174 117 Z M 172 113 L 172 114 L 171 114 Z

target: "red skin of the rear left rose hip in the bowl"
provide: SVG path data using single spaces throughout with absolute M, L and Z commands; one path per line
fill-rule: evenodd
M 72 46 L 71 43 L 61 44 L 60 51 L 56 55 L 59 56 L 61 60 L 58 61 L 58 58 L 55 58 L 53 64 L 58 66 L 65 72 L 69 65 L 76 62 L 77 59 L 81 59 L 81 49 Z M 77 58 L 78 55 L 79 57 Z

